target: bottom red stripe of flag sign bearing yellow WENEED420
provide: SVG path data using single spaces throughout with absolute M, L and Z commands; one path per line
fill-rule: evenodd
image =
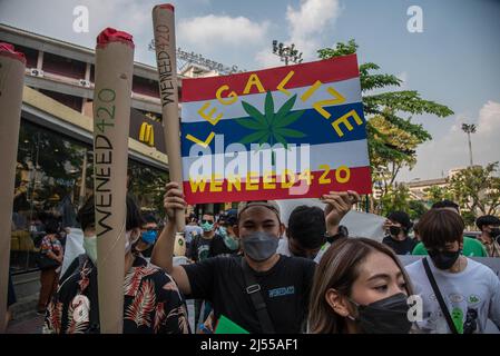
M 372 192 L 372 179 L 370 176 L 370 167 L 355 167 L 350 168 L 350 179 L 346 182 L 339 182 L 336 179 L 336 171 L 331 170 L 327 175 L 324 171 L 313 171 L 311 172 L 312 179 L 311 185 L 306 185 L 306 176 L 303 175 L 303 187 L 306 190 L 300 190 L 297 187 L 301 181 L 296 181 L 293 188 L 283 187 L 281 182 L 275 182 L 274 188 L 264 188 L 263 178 L 257 177 L 252 181 L 251 185 L 241 182 L 241 189 L 237 190 L 235 185 L 232 184 L 231 188 L 233 191 L 228 191 L 229 182 L 227 179 L 220 181 L 218 185 L 214 184 L 210 187 L 210 182 L 205 184 L 205 189 L 200 191 L 199 187 L 196 191 L 193 190 L 192 185 L 188 181 L 184 181 L 184 194 L 186 195 L 186 201 L 189 205 L 194 204 L 206 204 L 206 202 L 228 202 L 228 201 L 246 201 L 246 200 L 274 200 L 274 199 L 302 199 L 302 198 L 318 198 L 323 194 L 327 194 L 332 190 L 344 191 L 344 190 L 355 190 L 357 194 L 371 194 Z M 298 175 L 295 176 L 297 178 Z M 340 177 L 345 179 L 345 171 L 340 172 Z M 320 179 L 331 180 L 330 184 L 320 182 Z M 288 180 L 290 181 L 290 180 Z M 267 185 L 273 184 L 266 180 Z M 212 190 L 210 190 L 212 188 Z M 252 189 L 256 188 L 256 190 Z M 308 189 L 307 189 L 308 188 Z M 215 191 L 215 190 L 222 191 Z M 295 192 L 295 194 L 294 194 Z

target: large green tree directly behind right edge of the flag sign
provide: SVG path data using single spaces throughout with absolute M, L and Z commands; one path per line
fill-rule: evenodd
M 354 40 L 336 43 L 335 48 L 320 49 L 322 59 L 355 53 Z M 416 147 L 432 139 L 422 125 L 411 121 L 412 115 L 432 113 L 438 117 L 453 111 L 434 101 L 424 100 L 416 90 L 384 91 L 388 87 L 400 87 L 402 80 L 393 75 L 373 73 L 380 67 L 367 62 L 360 65 L 360 81 L 363 109 L 366 116 L 369 154 L 374 181 L 382 181 L 382 195 L 386 195 L 401 168 L 412 168 L 416 162 Z M 369 93 L 376 89 L 378 93 Z

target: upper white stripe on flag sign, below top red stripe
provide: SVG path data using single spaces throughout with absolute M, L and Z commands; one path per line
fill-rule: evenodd
M 272 91 L 273 100 L 274 100 L 274 112 L 277 112 L 277 110 L 280 110 L 280 108 L 283 106 L 283 103 L 285 103 L 285 101 L 288 100 L 290 98 L 292 98 L 292 96 L 294 96 L 294 95 L 297 95 L 295 105 L 292 109 L 294 111 L 302 110 L 302 109 L 311 109 L 311 108 L 313 108 L 314 103 L 320 102 L 322 100 L 333 100 L 335 97 L 333 96 L 332 92 L 329 91 L 329 88 L 333 88 L 335 91 L 337 91 L 344 98 L 344 101 L 341 100 L 342 102 L 336 103 L 336 105 L 325 103 L 325 105 L 322 105 L 323 107 L 347 105 L 347 103 L 354 103 L 354 102 L 361 101 L 360 78 L 352 78 L 352 79 L 342 80 L 342 81 L 323 83 L 310 97 L 306 97 L 305 101 L 302 100 L 302 96 L 310 88 L 311 88 L 311 86 L 303 87 L 303 88 L 286 89 L 290 91 L 288 96 L 281 91 Z M 229 90 L 223 92 L 223 97 L 226 97 L 229 92 L 231 92 Z M 205 118 L 202 117 L 202 115 L 198 111 L 207 103 L 209 103 L 209 106 L 206 106 L 202 110 L 202 112 L 205 112 L 205 115 L 209 115 L 213 118 L 216 118 L 217 116 L 219 116 L 222 113 L 223 117 L 220 118 L 220 120 L 248 117 L 248 113 L 243 109 L 242 101 L 248 102 L 249 105 L 257 108 L 258 111 L 264 113 L 265 96 L 266 96 L 265 92 L 241 96 L 232 105 L 223 105 L 215 97 L 213 100 L 183 102 L 183 109 L 182 109 L 182 118 L 183 119 L 182 119 L 182 121 L 183 122 L 200 122 L 200 121 L 206 120 Z M 225 98 L 223 100 L 229 100 L 229 99 Z M 214 109 L 215 109 L 215 111 L 210 115 L 210 112 Z

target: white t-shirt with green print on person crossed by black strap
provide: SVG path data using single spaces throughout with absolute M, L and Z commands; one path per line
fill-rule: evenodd
M 483 333 L 488 318 L 500 328 L 500 280 L 489 267 L 468 258 L 465 269 L 452 274 L 435 268 L 432 259 L 428 260 L 460 334 Z M 423 301 L 423 320 L 416 323 L 421 332 L 450 334 L 422 260 L 406 266 L 406 271 L 414 293 Z

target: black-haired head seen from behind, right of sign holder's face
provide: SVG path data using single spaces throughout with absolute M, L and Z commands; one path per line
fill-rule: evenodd
M 314 249 L 325 241 L 326 222 L 323 209 L 301 205 L 293 209 L 288 218 L 288 238 L 301 247 Z

